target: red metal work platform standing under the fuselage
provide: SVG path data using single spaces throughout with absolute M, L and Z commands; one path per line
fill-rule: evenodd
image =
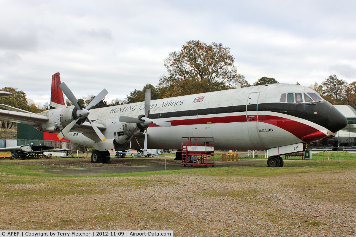
M 214 167 L 215 141 L 213 137 L 182 138 L 182 165 Z

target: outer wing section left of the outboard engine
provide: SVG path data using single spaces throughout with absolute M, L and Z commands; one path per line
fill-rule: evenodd
M 0 109 L 0 120 L 15 123 L 39 124 L 45 123 L 48 120 L 48 117 L 39 114 Z

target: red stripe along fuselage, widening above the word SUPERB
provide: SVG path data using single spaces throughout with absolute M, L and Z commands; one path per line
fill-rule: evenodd
M 181 119 L 181 120 L 171 120 L 171 126 L 180 125 L 196 125 L 196 124 L 207 124 L 207 123 L 239 123 L 247 122 L 246 115 L 239 116 L 226 116 L 226 117 L 212 117 L 212 118 L 196 118 L 196 119 Z M 311 142 L 311 138 L 308 137 L 309 134 L 313 134 L 313 141 L 322 139 L 326 135 L 320 132 L 318 129 L 313 128 L 304 123 L 300 123 L 296 120 L 282 118 L 272 115 L 258 115 L 258 122 L 268 123 L 283 130 L 292 133 L 294 136 L 303 140 L 304 142 Z M 252 123 L 252 122 L 249 122 Z M 150 127 L 156 127 L 157 125 L 151 124 Z M 315 136 L 316 135 L 316 136 Z M 319 138 L 320 135 L 320 138 Z

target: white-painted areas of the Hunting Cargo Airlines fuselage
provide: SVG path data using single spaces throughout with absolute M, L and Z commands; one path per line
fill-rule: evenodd
M 200 93 L 195 95 L 173 97 L 167 99 L 157 99 L 151 101 L 150 114 L 162 114 L 180 111 L 197 111 L 199 109 L 209 109 L 230 106 L 245 106 L 248 103 L 278 103 L 282 93 L 288 92 L 315 92 L 314 90 L 292 84 L 270 84 L 268 86 L 251 86 L 225 91 L 215 91 Z M 193 102 L 197 97 L 203 97 L 200 102 Z M 305 103 L 305 102 L 304 102 Z M 107 129 L 103 130 L 106 137 L 104 144 L 93 142 L 86 136 L 79 133 L 73 136 L 71 132 L 65 136 L 66 139 L 79 144 L 95 147 L 100 150 L 113 149 L 112 141 L 114 140 L 115 128 L 112 124 L 122 126 L 119 116 L 138 117 L 144 113 L 144 102 L 122 104 L 105 108 L 91 109 L 89 118 L 95 120 L 95 123 L 104 124 Z M 194 113 L 193 113 L 194 114 Z M 286 146 L 303 142 L 292 133 L 279 128 L 278 126 L 259 122 L 257 117 L 255 121 L 245 122 L 219 122 L 214 123 L 214 119 L 221 119 L 231 116 L 246 116 L 246 120 L 253 115 L 271 115 L 297 121 L 301 124 L 309 125 L 319 131 L 323 131 L 326 136 L 332 132 L 323 126 L 312 123 L 308 120 L 294 117 L 278 112 L 270 111 L 240 111 L 218 114 L 201 114 L 201 115 L 182 115 L 179 117 L 158 118 L 153 120 L 163 120 L 172 123 L 170 128 L 161 126 L 150 126 L 147 129 L 147 142 L 150 149 L 180 149 L 181 138 L 189 136 L 204 136 L 215 138 L 215 149 L 234 149 L 234 150 L 266 150 L 272 147 Z M 195 119 L 195 120 L 194 120 Z M 196 121 L 197 124 L 191 124 L 189 121 Z M 177 121 L 180 121 L 177 123 Z M 180 125 L 174 125 L 175 122 Z M 184 124 L 188 123 L 188 124 Z M 259 130 L 260 129 L 260 130 Z M 133 138 L 135 139 L 135 138 Z M 143 139 L 137 138 L 143 147 Z M 104 147 L 104 148 L 103 148 Z M 135 147 L 133 147 L 135 148 Z M 138 148 L 138 147 L 136 147 Z

